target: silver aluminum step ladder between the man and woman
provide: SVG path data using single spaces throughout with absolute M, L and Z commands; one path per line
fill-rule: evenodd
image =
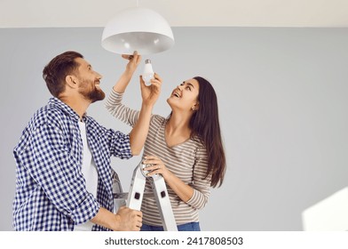
M 121 181 L 117 173 L 113 172 L 114 212 L 116 213 L 122 205 L 126 205 L 131 209 L 140 210 L 143 198 L 151 195 L 151 193 L 144 192 L 147 178 L 151 182 L 154 198 L 161 215 L 163 229 L 165 231 L 178 231 L 174 213 L 170 205 L 170 197 L 162 175 L 156 173 L 152 176 L 147 176 L 146 174 L 149 172 L 144 171 L 145 167 L 146 165 L 140 162 L 134 169 L 129 193 L 123 192 Z

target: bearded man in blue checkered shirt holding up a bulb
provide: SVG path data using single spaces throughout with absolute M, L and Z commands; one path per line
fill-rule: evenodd
M 140 56 L 128 65 L 138 65 Z M 140 80 L 143 104 L 130 134 L 107 129 L 86 110 L 103 100 L 102 76 L 78 52 L 63 52 L 44 68 L 53 98 L 31 118 L 13 150 L 17 164 L 15 230 L 139 230 L 142 213 L 113 210 L 111 156 L 138 155 L 146 141 L 162 80 Z

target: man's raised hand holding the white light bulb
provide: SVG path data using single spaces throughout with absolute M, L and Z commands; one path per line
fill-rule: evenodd
M 154 79 L 151 80 L 150 85 L 146 85 L 143 77 L 140 76 L 141 97 L 143 104 L 147 106 L 154 106 L 156 100 L 161 93 L 162 78 L 154 73 Z

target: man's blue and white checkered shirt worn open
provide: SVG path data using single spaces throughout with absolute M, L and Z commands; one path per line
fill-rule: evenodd
M 113 211 L 111 156 L 130 158 L 129 135 L 115 132 L 83 116 L 99 181 L 97 199 L 86 190 L 81 171 L 83 141 L 79 116 L 57 98 L 40 108 L 14 148 L 15 230 L 73 230 L 105 207 Z M 93 230 L 107 230 L 98 225 Z

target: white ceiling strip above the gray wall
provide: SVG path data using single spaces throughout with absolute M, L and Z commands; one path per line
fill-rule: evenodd
M 348 0 L 0 0 L 0 28 L 103 27 L 137 4 L 172 27 L 348 27 Z

